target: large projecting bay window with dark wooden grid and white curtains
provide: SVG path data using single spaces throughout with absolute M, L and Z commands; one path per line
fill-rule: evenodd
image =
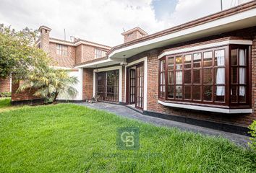
M 249 45 L 163 56 L 159 61 L 159 99 L 213 107 L 250 107 Z

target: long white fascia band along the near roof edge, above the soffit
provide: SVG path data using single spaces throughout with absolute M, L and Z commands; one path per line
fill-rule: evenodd
M 221 19 L 216 19 L 216 20 L 213 20 L 211 22 L 204 23 L 202 25 L 197 25 L 195 27 L 189 27 L 189 28 L 184 29 L 184 30 L 179 30 L 177 32 L 172 32 L 168 35 L 163 35 L 161 37 L 155 37 L 151 40 L 146 40 L 146 41 L 142 41 L 140 43 L 136 43 L 134 45 L 129 45 L 125 48 L 116 49 L 112 53 L 110 53 L 108 55 L 108 57 L 111 58 L 116 53 L 121 53 L 121 52 L 126 51 L 126 50 L 140 48 L 140 47 L 151 45 L 151 44 L 154 44 L 154 43 L 164 42 L 166 40 L 177 40 L 177 39 L 179 39 L 179 37 L 184 37 L 186 35 L 193 35 L 193 34 L 196 34 L 196 33 L 198 35 L 198 32 L 202 32 L 202 31 L 206 32 L 208 30 L 210 32 L 210 30 L 213 30 L 213 29 L 218 30 L 217 27 L 224 27 L 224 25 L 228 25 L 228 24 L 231 24 L 231 23 L 234 23 L 234 22 L 239 22 L 243 19 L 249 19 L 250 17 L 255 17 L 255 16 L 256 16 L 256 8 L 255 9 L 249 9 L 245 12 L 240 12 L 240 13 L 237 13 L 237 14 L 234 14 L 234 15 L 230 15 L 228 17 L 223 17 Z M 241 25 L 241 24 L 238 24 L 238 25 Z M 242 26 L 238 26 L 238 27 L 240 27 L 241 29 L 243 28 Z M 151 46 L 151 47 L 153 47 L 153 46 Z

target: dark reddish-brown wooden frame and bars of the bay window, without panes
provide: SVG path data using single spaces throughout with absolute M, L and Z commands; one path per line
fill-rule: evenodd
M 246 102 L 242 104 L 231 104 L 231 48 L 236 48 L 236 47 L 242 47 L 247 49 L 247 70 L 246 70 L 246 81 L 247 83 L 244 85 L 246 86 Z M 217 50 L 224 50 L 224 66 L 216 66 L 215 65 L 215 52 Z M 204 65 L 204 53 L 205 52 L 212 52 L 212 64 L 211 66 L 205 66 Z M 194 59 L 193 59 L 193 54 L 194 53 L 201 53 L 201 66 L 198 68 L 194 68 Z M 191 71 L 191 84 L 184 84 L 184 56 L 186 55 L 191 55 L 191 66 L 190 68 L 185 68 L 185 70 Z M 182 99 L 176 99 L 176 60 L 175 58 L 177 56 L 182 56 Z M 174 69 L 170 70 L 168 69 L 168 58 L 174 58 Z M 165 60 L 166 63 L 166 69 L 164 71 L 165 73 L 165 97 L 161 97 L 161 61 Z M 159 59 L 158 63 L 158 99 L 163 101 L 163 102 L 171 102 L 171 103 L 179 103 L 179 104 L 187 104 L 187 105 L 200 105 L 200 106 L 209 106 L 209 107 L 223 107 L 223 108 L 236 108 L 236 107 L 242 107 L 242 108 L 249 108 L 252 106 L 252 97 L 251 97 L 251 46 L 250 45 L 223 45 L 219 47 L 214 47 L 214 48 L 207 48 L 207 49 L 202 49 L 202 50 L 193 50 L 189 52 L 184 52 L 184 53 L 176 53 L 176 54 L 170 54 L 167 56 L 163 56 L 162 58 Z M 216 72 L 218 68 L 224 68 L 225 71 L 225 84 L 216 84 Z M 194 69 L 200 69 L 200 84 L 194 84 Z M 204 70 L 205 69 L 211 69 L 212 71 L 212 81 L 210 84 L 205 84 L 204 83 Z M 174 84 L 168 84 L 168 71 L 174 71 Z M 194 86 L 200 86 L 200 100 L 195 100 L 193 99 L 193 89 Z M 170 98 L 168 97 L 168 87 L 174 86 L 174 97 Z M 184 86 L 191 86 L 190 87 L 190 99 L 184 99 Z M 204 100 L 204 94 L 205 94 L 205 86 L 211 86 L 211 100 Z M 224 94 L 224 100 L 223 102 L 218 102 L 216 100 L 216 87 L 217 86 L 224 86 L 225 87 L 225 94 Z M 195 91 L 194 91 L 195 92 Z

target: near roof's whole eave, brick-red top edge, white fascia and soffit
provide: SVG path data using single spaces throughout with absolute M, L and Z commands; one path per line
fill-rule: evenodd
M 124 55 L 129 58 L 146 50 L 253 26 L 256 26 L 256 1 L 117 45 L 107 54 L 109 58 L 123 58 Z

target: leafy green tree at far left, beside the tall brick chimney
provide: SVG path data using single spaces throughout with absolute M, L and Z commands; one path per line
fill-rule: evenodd
M 45 68 L 51 58 L 43 50 L 36 48 L 37 31 L 25 28 L 16 32 L 11 27 L 0 25 L 0 77 L 13 74 L 22 79 L 33 67 Z

